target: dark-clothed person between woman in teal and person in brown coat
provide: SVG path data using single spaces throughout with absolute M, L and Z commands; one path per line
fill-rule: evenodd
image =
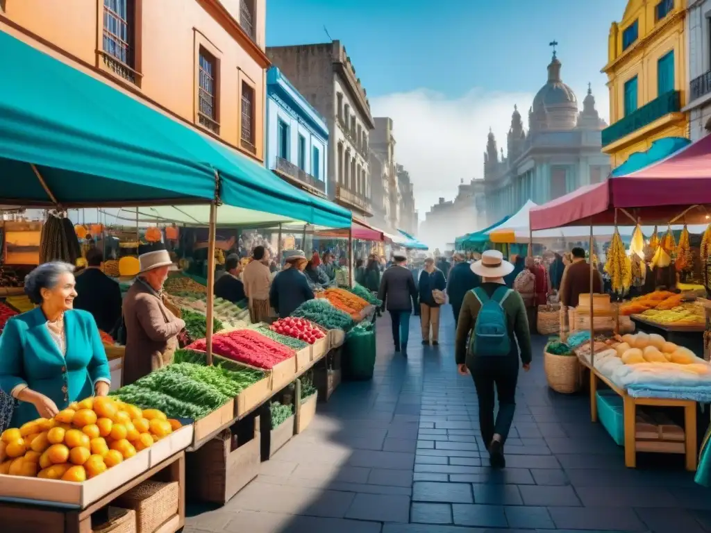
M 102 272 L 104 254 L 100 249 L 90 249 L 86 261 L 86 269 L 77 276 L 74 308 L 89 311 L 99 329 L 115 337 L 121 321 L 121 289 Z

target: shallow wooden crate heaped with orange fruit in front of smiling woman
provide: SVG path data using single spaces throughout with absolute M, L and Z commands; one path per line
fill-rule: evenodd
M 85 507 L 182 451 L 192 438 L 192 426 L 157 409 L 87 398 L 53 419 L 1 434 L 0 497 Z

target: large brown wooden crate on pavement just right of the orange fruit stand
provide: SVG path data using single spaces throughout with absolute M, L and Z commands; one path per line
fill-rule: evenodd
M 233 448 L 235 436 L 237 447 Z M 247 416 L 188 453 L 188 497 L 225 505 L 259 474 L 260 443 L 260 417 Z

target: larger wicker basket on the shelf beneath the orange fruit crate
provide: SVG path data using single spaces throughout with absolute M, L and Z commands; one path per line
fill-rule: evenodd
M 136 512 L 137 533 L 153 533 L 178 514 L 180 485 L 147 480 L 120 495 L 116 504 Z

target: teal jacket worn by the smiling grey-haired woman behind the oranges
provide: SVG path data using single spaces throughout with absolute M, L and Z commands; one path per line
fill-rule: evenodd
M 64 313 L 67 352 L 62 355 L 46 326 L 41 308 L 14 316 L 0 335 L 0 389 L 7 394 L 19 384 L 44 394 L 65 409 L 94 395 L 98 379 L 111 379 L 99 328 L 90 313 Z M 38 417 L 33 404 L 21 402 L 11 427 Z

